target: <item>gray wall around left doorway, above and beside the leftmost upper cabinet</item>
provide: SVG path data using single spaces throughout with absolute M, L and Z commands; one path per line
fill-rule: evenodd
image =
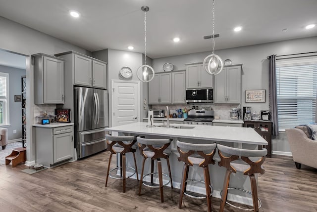
M 25 27 L 16 22 L 0 17 L 0 48 L 24 54 L 26 58 L 26 78 L 27 78 L 27 163 L 34 163 L 35 145 L 32 136 L 32 123 L 34 123 L 34 87 L 33 87 L 33 70 L 30 63 L 30 55 L 35 53 L 46 53 L 53 55 L 55 53 L 74 50 L 83 54 L 91 55 L 90 51 L 61 41 L 47 34 Z

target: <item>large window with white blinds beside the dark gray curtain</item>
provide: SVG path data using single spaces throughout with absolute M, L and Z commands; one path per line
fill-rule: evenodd
M 315 122 L 317 57 L 276 61 L 279 129 Z

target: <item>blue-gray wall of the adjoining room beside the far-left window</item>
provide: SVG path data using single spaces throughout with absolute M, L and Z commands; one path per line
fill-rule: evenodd
M 9 119 L 8 140 L 22 140 L 22 102 L 15 102 L 14 95 L 21 95 L 21 76 L 25 70 L 0 65 L 0 72 L 9 74 Z M 13 134 L 13 129 L 16 133 Z

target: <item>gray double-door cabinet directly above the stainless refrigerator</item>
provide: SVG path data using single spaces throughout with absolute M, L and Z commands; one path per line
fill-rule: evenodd
M 107 88 L 106 62 L 74 51 L 55 54 L 55 56 L 64 58 L 66 63 L 70 64 L 67 67 L 73 71 L 74 85 Z

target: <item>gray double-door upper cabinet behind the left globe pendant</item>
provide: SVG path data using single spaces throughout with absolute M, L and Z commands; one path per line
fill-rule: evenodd
M 149 82 L 149 104 L 171 104 L 171 73 L 155 74 Z

